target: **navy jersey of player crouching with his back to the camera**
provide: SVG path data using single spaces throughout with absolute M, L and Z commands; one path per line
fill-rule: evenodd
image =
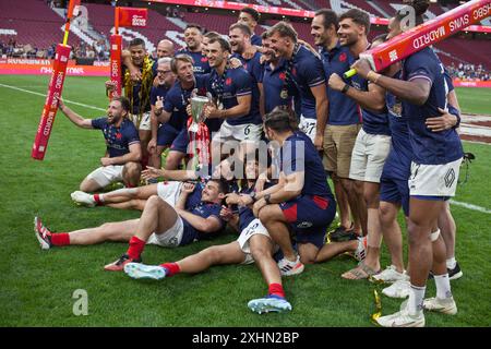
M 332 196 L 321 156 L 303 132 L 295 132 L 286 139 L 280 149 L 280 164 L 286 176 L 303 171 L 302 195 Z

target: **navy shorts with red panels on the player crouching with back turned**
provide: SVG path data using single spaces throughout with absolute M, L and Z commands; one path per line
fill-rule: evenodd
M 336 215 L 334 197 L 300 195 L 279 204 L 283 214 L 296 232 L 299 243 L 324 245 L 325 234 Z

